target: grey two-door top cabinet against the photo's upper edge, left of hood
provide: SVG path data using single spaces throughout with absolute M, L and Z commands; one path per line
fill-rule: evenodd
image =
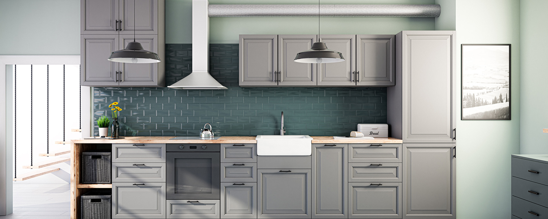
M 81 34 L 158 34 L 159 6 L 163 1 L 81 0 Z

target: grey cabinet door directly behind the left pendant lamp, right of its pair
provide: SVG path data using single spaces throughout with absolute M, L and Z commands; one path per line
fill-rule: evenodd
M 136 35 L 135 41 L 141 43 L 145 50 L 158 53 L 157 35 Z M 125 48 L 129 43 L 133 42 L 133 35 L 120 35 L 120 49 Z M 140 63 L 123 63 L 119 64 L 121 72 L 121 86 L 155 86 L 158 85 L 158 63 L 140 64 Z

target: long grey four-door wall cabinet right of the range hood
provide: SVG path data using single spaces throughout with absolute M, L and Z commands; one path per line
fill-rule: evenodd
M 240 35 L 242 87 L 389 87 L 394 80 L 394 35 L 321 35 L 345 61 L 293 61 L 317 35 Z M 277 41 L 277 42 L 276 42 Z M 276 66 L 277 64 L 277 66 Z

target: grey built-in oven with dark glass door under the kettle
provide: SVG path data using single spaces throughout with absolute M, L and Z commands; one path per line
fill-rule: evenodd
M 166 149 L 167 199 L 220 199 L 220 144 L 170 143 Z

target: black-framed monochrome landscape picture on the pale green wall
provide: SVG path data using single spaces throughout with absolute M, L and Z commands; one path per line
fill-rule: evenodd
M 510 120 L 510 44 L 462 44 L 462 120 Z

